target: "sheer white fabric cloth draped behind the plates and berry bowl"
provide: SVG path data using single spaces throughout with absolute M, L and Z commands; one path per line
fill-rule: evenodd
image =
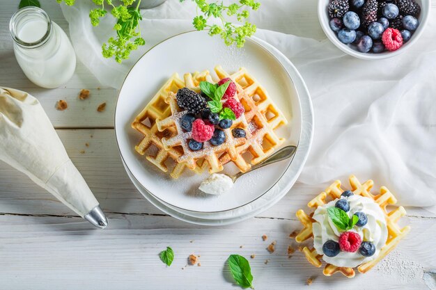
M 114 33 L 113 19 L 89 24 L 91 1 L 62 6 L 79 60 L 102 84 L 119 88 L 145 51 L 171 35 L 191 31 L 194 4 L 168 0 L 143 10 L 146 46 L 123 65 L 101 56 L 102 42 Z M 256 36 L 274 45 L 302 74 L 315 112 L 311 154 L 299 177 L 306 184 L 327 184 L 355 174 L 386 185 L 399 203 L 436 204 L 436 12 L 419 42 L 404 54 L 363 61 L 344 54 L 326 39 L 317 1 L 262 1 L 251 13 Z M 317 193 L 313 193 L 316 195 Z

